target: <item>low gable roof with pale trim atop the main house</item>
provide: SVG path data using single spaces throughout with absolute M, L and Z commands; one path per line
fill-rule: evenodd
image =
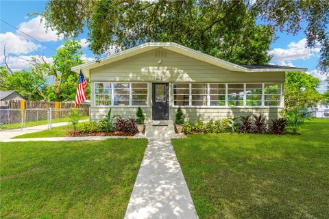
M 110 64 L 112 62 L 117 62 L 119 60 L 123 60 L 127 57 L 132 57 L 134 55 L 138 55 L 140 53 L 144 53 L 146 51 L 151 51 L 153 49 L 158 48 L 168 49 L 170 51 L 174 51 L 176 53 L 180 53 L 182 55 L 186 55 L 188 57 L 192 57 L 195 60 L 200 60 L 202 62 L 206 62 L 208 64 L 212 64 L 215 66 L 219 66 L 221 68 L 226 68 L 232 71 L 239 71 L 245 73 L 252 72 L 284 72 L 284 71 L 306 71 L 307 68 L 297 68 L 290 66 L 271 66 L 271 65 L 258 65 L 258 68 L 254 67 L 255 65 L 238 65 L 232 62 L 227 62 L 225 60 L 221 60 L 217 57 L 207 55 L 206 53 L 202 53 L 200 51 L 196 51 L 194 49 L 190 49 L 188 47 L 184 47 L 175 42 L 147 42 L 145 44 L 141 44 L 137 47 L 133 47 L 131 49 L 126 49 L 119 53 L 114 53 L 112 55 L 108 55 L 106 57 L 102 57 L 99 60 L 94 60 L 91 62 L 87 62 L 85 64 L 81 64 L 79 66 L 74 66 L 71 70 L 79 73 L 80 68 L 84 74 L 89 75 L 90 70 L 93 68 L 98 68 L 100 66 Z M 282 68 L 284 67 L 284 68 Z

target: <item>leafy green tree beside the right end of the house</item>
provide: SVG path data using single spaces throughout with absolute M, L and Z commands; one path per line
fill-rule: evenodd
M 323 99 L 317 92 L 319 79 L 302 72 L 286 73 L 284 83 L 284 107 L 287 110 L 315 107 Z

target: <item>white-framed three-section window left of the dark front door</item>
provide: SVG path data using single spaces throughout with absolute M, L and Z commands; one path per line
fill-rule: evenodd
M 111 83 L 111 105 L 96 105 L 96 83 Z M 113 83 L 129 83 L 129 105 L 114 105 L 114 87 Z M 147 105 L 132 105 L 132 83 L 146 83 L 147 84 Z M 106 81 L 106 82 L 93 82 L 93 105 L 94 107 L 149 107 L 149 83 L 148 82 L 125 82 L 125 81 Z

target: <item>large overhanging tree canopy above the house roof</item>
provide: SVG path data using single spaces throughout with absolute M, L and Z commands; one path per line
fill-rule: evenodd
M 274 30 L 304 30 L 308 47 L 321 45 L 319 68 L 329 66 L 327 0 L 51 0 L 42 15 L 67 38 L 86 25 L 98 55 L 143 42 L 177 42 L 236 64 L 267 64 Z M 268 25 L 256 25 L 256 18 Z

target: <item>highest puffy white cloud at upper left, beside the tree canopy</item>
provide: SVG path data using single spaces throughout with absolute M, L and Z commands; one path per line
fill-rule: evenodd
M 64 38 L 62 34 L 58 37 L 57 31 L 52 29 L 47 30 L 45 28 L 45 18 L 42 18 L 42 16 L 37 16 L 27 22 L 21 23 L 19 29 L 40 41 L 58 41 Z M 16 33 L 22 37 L 28 37 L 20 31 L 16 31 Z

